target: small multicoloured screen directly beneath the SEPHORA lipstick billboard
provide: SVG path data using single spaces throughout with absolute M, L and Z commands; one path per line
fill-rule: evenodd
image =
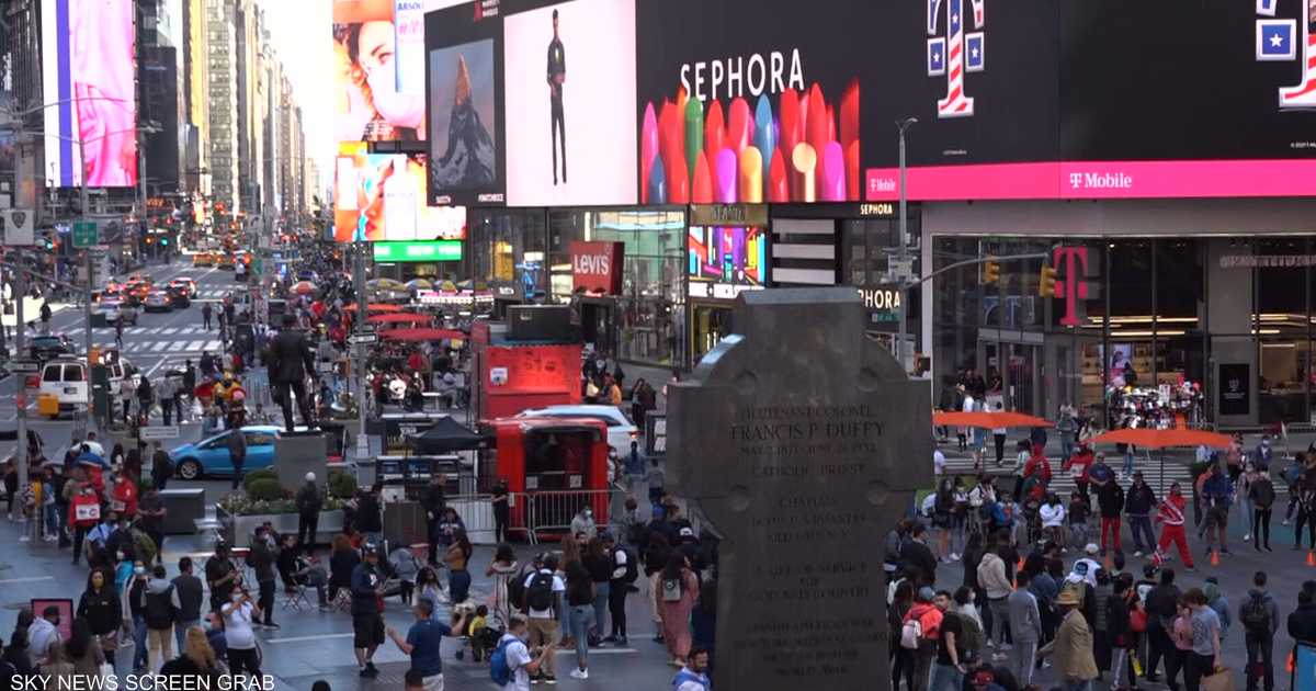
M 732 299 L 767 284 L 767 232 L 762 228 L 691 226 L 691 297 Z

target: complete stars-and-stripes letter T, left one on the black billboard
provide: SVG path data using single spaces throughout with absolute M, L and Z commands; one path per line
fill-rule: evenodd
M 980 72 L 987 67 L 983 3 L 970 0 L 974 8 L 974 28 L 965 33 L 965 0 L 945 0 L 946 36 L 937 36 L 937 14 L 942 0 L 928 0 L 928 76 L 946 75 L 946 97 L 937 99 L 937 117 L 970 117 L 974 99 L 965 93 L 965 72 Z

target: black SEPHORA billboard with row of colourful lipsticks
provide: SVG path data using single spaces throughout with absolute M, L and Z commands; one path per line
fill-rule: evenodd
M 641 0 L 641 203 L 859 200 L 876 5 Z

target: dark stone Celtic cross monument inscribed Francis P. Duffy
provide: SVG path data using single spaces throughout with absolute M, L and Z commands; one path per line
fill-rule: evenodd
M 882 542 L 932 486 L 928 384 L 854 288 L 742 292 L 671 384 L 667 486 L 722 537 L 719 691 L 890 688 Z

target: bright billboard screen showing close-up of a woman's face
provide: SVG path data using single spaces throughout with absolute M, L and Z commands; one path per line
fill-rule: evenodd
M 425 13 L 462 0 L 333 0 L 337 141 L 426 138 Z

